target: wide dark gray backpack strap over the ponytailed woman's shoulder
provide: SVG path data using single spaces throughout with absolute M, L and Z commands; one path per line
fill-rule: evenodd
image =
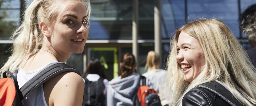
M 31 78 L 27 83 L 25 83 L 21 87 L 20 90 L 22 92 L 23 97 L 20 98 L 20 100 L 23 100 L 24 98 L 26 98 L 32 91 L 34 91 L 36 88 L 41 86 L 50 78 L 63 72 L 75 72 L 78 75 L 80 75 L 75 68 L 70 67 L 65 63 L 56 62 L 56 63 L 50 64 L 49 67 L 43 69 L 40 73 L 35 75 L 33 78 Z

